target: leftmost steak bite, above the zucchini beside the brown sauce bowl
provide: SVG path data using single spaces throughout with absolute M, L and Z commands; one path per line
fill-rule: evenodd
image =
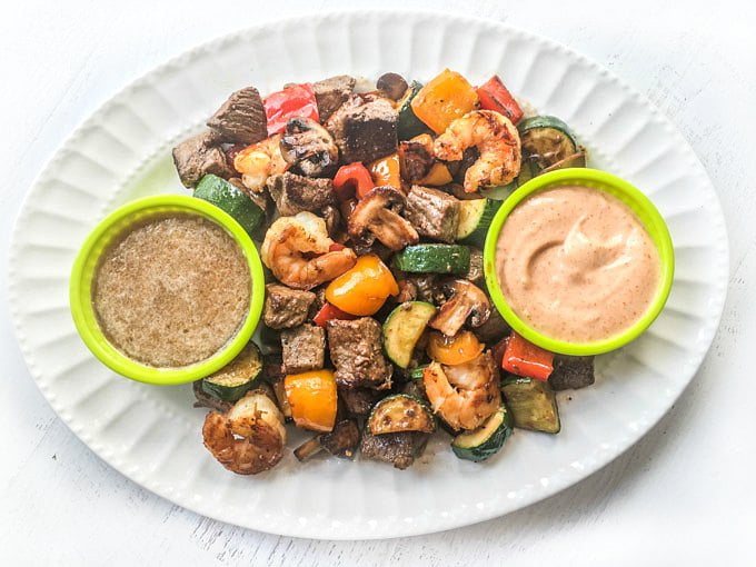
M 179 143 L 173 148 L 173 163 L 183 187 L 195 187 L 207 173 L 223 179 L 236 173 L 215 132 L 202 132 Z

